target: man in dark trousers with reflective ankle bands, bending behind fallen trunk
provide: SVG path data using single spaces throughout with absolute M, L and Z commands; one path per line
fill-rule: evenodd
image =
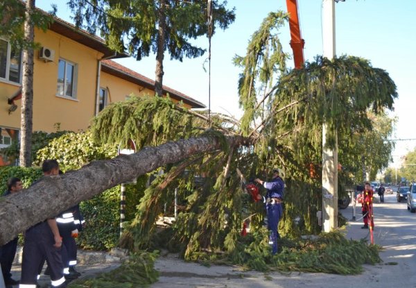
M 44 176 L 56 176 L 59 172 L 59 164 L 56 160 L 45 160 L 42 171 Z M 26 230 L 19 288 L 36 288 L 38 270 L 44 259 L 51 269 L 52 287 L 67 287 L 61 248 L 62 238 L 56 219 L 46 219 Z

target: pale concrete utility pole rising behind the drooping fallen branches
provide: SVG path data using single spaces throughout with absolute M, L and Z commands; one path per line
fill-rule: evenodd
M 335 56 L 335 2 L 322 0 L 324 57 Z M 322 230 L 338 227 L 338 137 L 335 149 L 326 149 L 327 124 L 322 127 Z

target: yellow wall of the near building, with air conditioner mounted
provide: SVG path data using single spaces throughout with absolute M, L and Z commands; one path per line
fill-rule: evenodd
M 53 62 L 38 59 L 35 51 L 33 82 L 33 130 L 55 131 L 85 130 L 94 117 L 98 59 L 103 55 L 83 44 L 53 31 L 35 30 L 35 41 L 55 51 Z M 57 95 L 58 61 L 62 58 L 77 65 L 76 99 Z M 8 115 L 7 98 L 19 85 L 0 82 L 0 126 L 19 128 L 21 100 L 15 101 L 18 109 Z M 0 99 L 1 100 L 1 99 Z

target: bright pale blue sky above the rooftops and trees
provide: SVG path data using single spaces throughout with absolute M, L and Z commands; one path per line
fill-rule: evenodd
M 313 61 L 322 55 L 322 0 L 297 0 L 301 33 L 305 40 L 305 59 Z M 58 6 L 57 16 L 71 22 L 66 0 L 40 0 L 36 5 L 51 10 Z M 225 31 L 217 29 L 211 40 L 211 110 L 239 118 L 237 81 L 241 70 L 232 64 L 235 55 L 244 56 L 250 36 L 268 12 L 286 11 L 286 0 L 229 0 L 228 8 L 236 9 L 236 21 Z M 397 85 L 398 99 L 390 112 L 397 117 L 393 139 L 416 139 L 413 98 L 416 84 L 416 1 L 415 0 L 345 0 L 336 3 L 336 55 L 359 56 L 370 60 L 373 67 L 385 69 Z M 291 53 L 288 24 L 280 30 L 284 51 Z M 202 37 L 195 42 L 207 48 Z M 163 83 L 208 106 L 208 74 L 205 60 L 164 60 Z M 116 60 L 121 65 L 149 78 L 155 78 L 155 56 L 141 61 L 134 58 Z M 288 63 L 292 65 L 291 62 Z M 416 140 L 397 141 L 392 153 L 392 167 L 399 167 L 400 158 L 413 151 Z

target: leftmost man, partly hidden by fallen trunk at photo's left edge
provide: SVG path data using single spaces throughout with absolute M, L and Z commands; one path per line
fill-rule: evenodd
M 22 189 L 22 187 L 21 180 L 19 178 L 12 177 L 7 181 L 7 191 L 4 193 L 4 196 L 17 193 Z M 14 280 L 12 278 L 12 273 L 10 273 L 13 260 L 15 260 L 16 250 L 17 237 L 0 248 L 1 271 L 3 272 L 4 284 L 6 284 L 6 286 L 19 284 L 19 281 Z

